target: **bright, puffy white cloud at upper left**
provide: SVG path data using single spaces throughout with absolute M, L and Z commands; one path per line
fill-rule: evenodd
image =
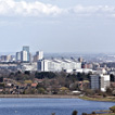
M 39 16 L 39 15 L 58 15 L 62 13 L 62 9 L 52 4 L 44 4 L 38 1 L 26 2 L 14 0 L 0 0 L 0 15 L 23 15 L 23 16 Z

